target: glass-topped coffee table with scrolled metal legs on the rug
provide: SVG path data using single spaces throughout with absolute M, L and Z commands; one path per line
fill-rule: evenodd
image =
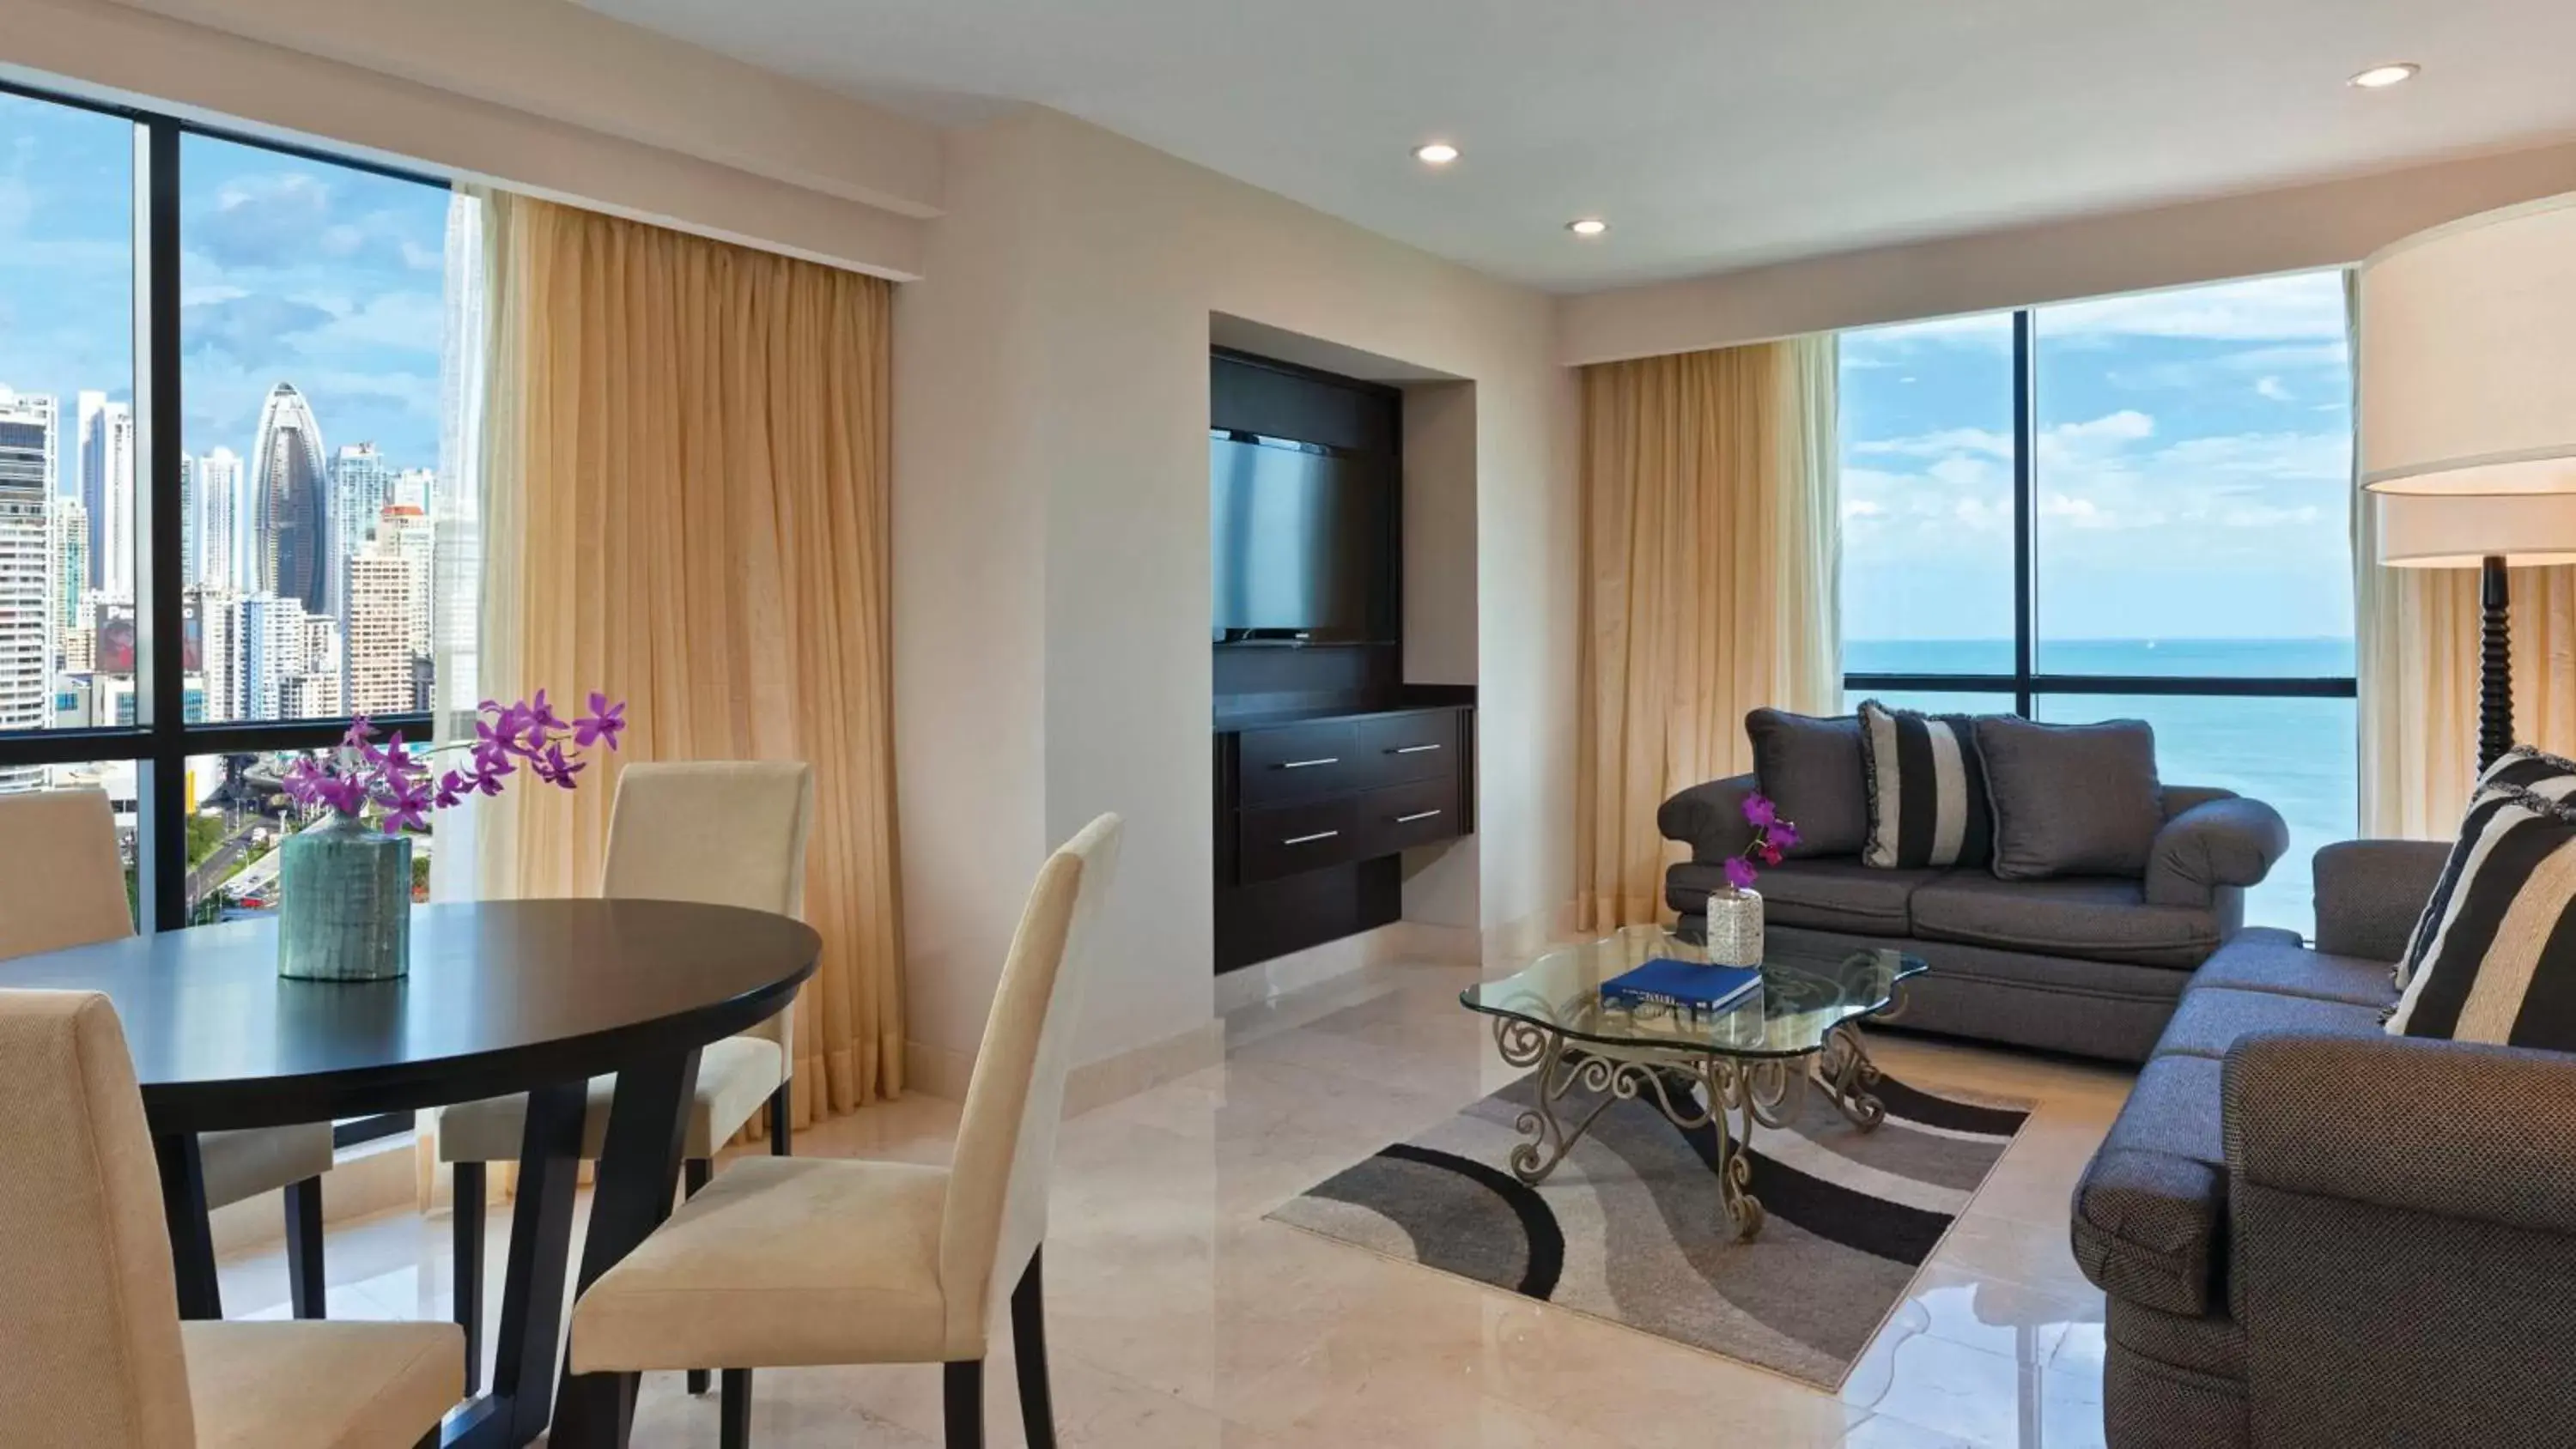
M 1535 1066 L 1538 1104 L 1515 1127 L 1512 1176 L 1543 1181 L 1613 1104 L 1643 1096 L 1674 1127 L 1718 1138 L 1718 1204 L 1739 1238 L 1762 1230 L 1744 1156 L 1754 1127 L 1788 1125 L 1808 1084 L 1862 1132 L 1888 1109 L 1873 1096 L 1878 1068 L 1860 1022 L 1901 1011 L 1904 981 L 1919 957 L 1893 950 L 1821 950 L 1772 942 L 1762 988 L 1723 1011 L 1610 1006 L 1600 986 L 1651 957 L 1705 963 L 1708 952 L 1659 927 L 1551 950 L 1528 968 L 1458 993 L 1468 1011 L 1494 1017 L 1494 1048 L 1510 1066 Z M 1561 1112 L 1582 1089 L 1600 1102 Z

